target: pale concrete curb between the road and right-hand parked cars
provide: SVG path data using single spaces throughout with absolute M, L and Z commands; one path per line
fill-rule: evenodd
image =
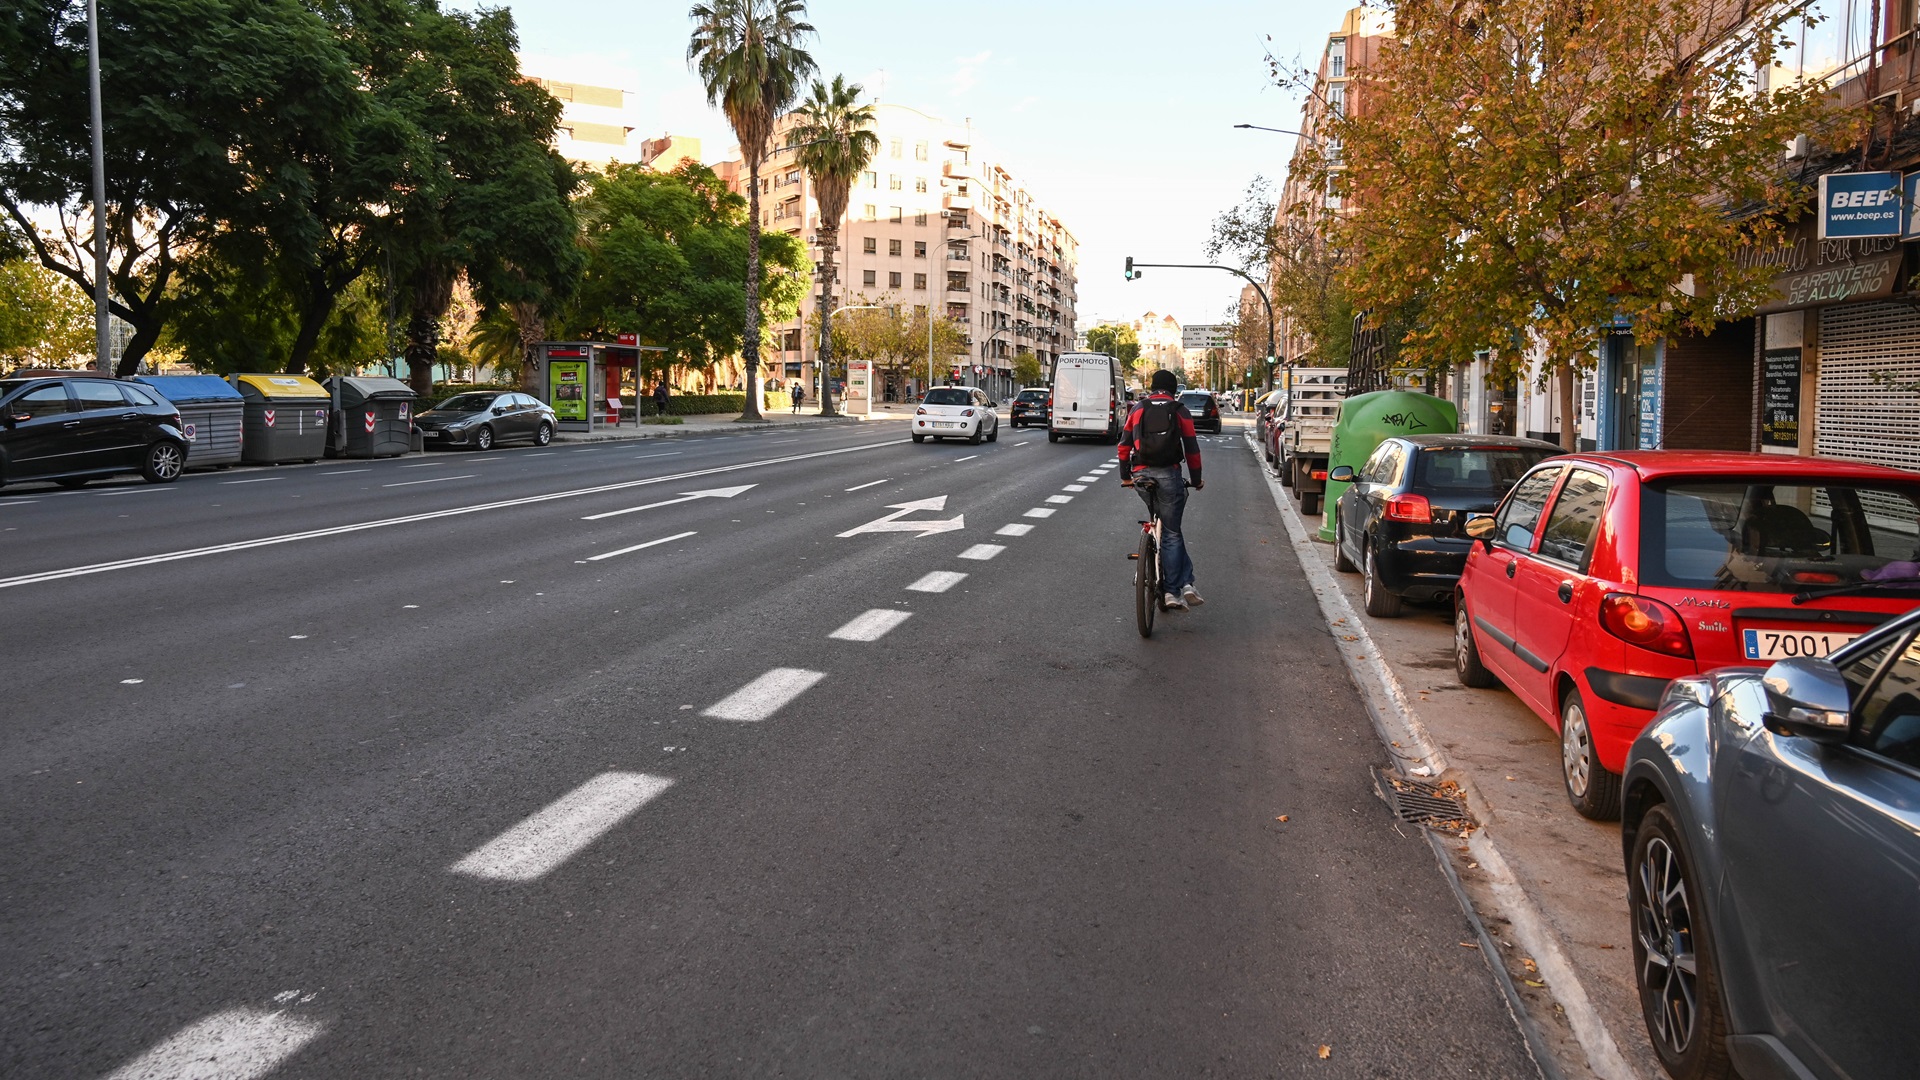
M 1273 496 L 1275 505 L 1281 509 L 1281 521 L 1286 523 L 1286 538 L 1294 548 L 1294 557 L 1300 559 L 1300 571 L 1306 577 L 1308 588 L 1313 590 L 1313 598 L 1319 601 L 1321 615 L 1327 617 L 1329 630 L 1334 634 L 1334 648 L 1340 651 L 1340 659 L 1346 661 L 1348 673 L 1354 676 L 1354 686 L 1359 690 L 1361 701 L 1367 705 L 1367 715 L 1373 719 L 1375 730 L 1380 734 L 1380 742 L 1386 751 L 1404 767 L 1407 773 L 1423 778 L 1438 778 L 1448 771 L 1446 755 L 1434 746 L 1432 738 L 1427 734 L 1427 726 L 1415 715 L 1413 707 L 1407 703 L 1407 692 L 1400 684 L 1400 676 L 1394 675 L 1386 659 L 1380 657 L 1380 650 L 1373 644 L 1373 636 L 1367 632 L 1365 623 L 1348 603 L 1346 594 L 1340 592 L 1340 584 L 1334 580 L 1332 571 L 1321 563 L 1313 552 L 1313 538 L 1308 532 L 1306 521 L 1294 507 L 1292 500 L 1281 488 L 1279 480 L 1267 473 L 1265 463 L 1260 459 L 1260 452 L 1254 450 L 1252 436 L 1248 436 L 1248 450 L 1254 452 L 1254 465 L 1260 469 L 1260 479 L 1267 482 L 1267 492 Z M 1501 855 L 1500 847 L 1494 844 L 1492 826 L 1486 821 L 1486 799 L 1475 788 L 1473 780 L 1465 774 L 1450 776 L 1457 782 L 1467 796 L 1467 803 L 1473 805 L 1482 821 L 1482 826 L 1473 832 L 1467 840 L 1467 847 L 1475 861 L 1480 863 L 1480 871 L 1486 874 L 1486 882 L 1494 892 L 1500 905 L 1500 915 L 1507 919 L 1515 942 L 1519 942 L 1540 965 L 1540 976 L 1553 990 L 1553 997 L 1559 1007 L 1567 1013 L 1567 1024 L 1572 1030 L 1574 1042 L 1586 1053 L 1586 1067 L 1592 1068 L 1594 1076 L 1599 1080 L 1642 1080 L 1640 1072 L 1628 1065 L 1626 1057 L 1620 1055 L 1619 1043 L 1613 1042 L 1613 1032 L 1607 1030 L 1605 1020 L 1594 1007 L 1592 997 L 1586 994 L 1586 986 L 1574 972 L 1572 961 L 1559 945 L 1559 936 L 1548 926 L 1546 915 L 1521 886 L 1507 859 Z M 1428 834 L 1432 836 L 1432 834 Z M 1442 844 L 1432 844 L 1434 857 L 1440 859 L 1442 871 L 1448 882 L 1453 886 L 1453 894 L 1459 899 L 1461 911 L 1475 924 L 1475 930 L 1482 936 L 1486 928 L 1480 926 L 1480 917 L 1467 899 L 1459 876 L 1455 874 L 1452 861 L 1446 857 L 1446 847 Z M 1513 1009 L 1515 1020 L 1521 1032 L 1526 1036 L 1528 1049 L 1534 1053 L 1536 1063 L 1542 1067 L 1549 1078 L 1557 1072 L 1551 1067 L 1551 1057 L 1544 1053 L 1544 1038 L 1536 1024 L 1530 1020 L 1524 1001 L 1519 997 L 1511 976 L 1505 969 L 1488 957 L 1488 967 L 1496 969 L 1498 982 L 1507 994 L 1507 1007 Z

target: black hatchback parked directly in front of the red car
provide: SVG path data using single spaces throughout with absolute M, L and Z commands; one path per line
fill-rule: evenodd
M 1467 515 L 1492 513 L 1519 479 L 1563 454 L 1551 442 L 1501 434 L 1415 434 L 1388 438 L 1356 473 L 1338 465 L 1329 480 L 1352 486 L 1334 505 L 1340 573 L 1367 575 L 1367 615 L 1392 619 L 1402 600 L 1453 596 L 1467 565 Z

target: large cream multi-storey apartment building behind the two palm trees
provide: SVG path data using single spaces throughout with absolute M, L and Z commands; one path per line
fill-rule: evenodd
M 977 140 L 972 123 L 895 104 L 876 104 L 879 154 L 854 181 L 841 223 L 833 306 L 881 304 L 931 309 L 964 329 L 964 356 L 935 356 L 935 380 L 952 369 L 996 396 L 1016 390 L 1012 363 L 1033 352 L 1050 365 L 1073 348 L 1079 242 L 1018 173 Z M 760 227 L 799 236 L 820 259 L 820 208 L 806 171 L 785 150 L 787 115 L 774 154 L 760 165 Z M 735 161 L 716 165 L 735 188 Z M 818 275 L 816 275 L 818 281 Z M 818 284 L 801 317 L 762 352 L 768 379 L 816 379 L 818 342 L 806 331 Z M 902 400 L 925 388 L 925 363 L 889 373 L 879 390 Z

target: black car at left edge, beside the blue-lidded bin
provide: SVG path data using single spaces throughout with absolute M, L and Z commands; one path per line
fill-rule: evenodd
M 119 379 L 0 379 L 0 484 L 140 473 L 169 484 L 186 467 L 180 409 Z

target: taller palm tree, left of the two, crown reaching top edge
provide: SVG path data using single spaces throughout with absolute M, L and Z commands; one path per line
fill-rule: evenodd
M 774 121 L 814 73 L 814 58 L 799 44 L 814 33 L 804 15 L 803 0 L 707 0 L 691 12 L 687 63 L 707 85 L 707 102 L 720 106 L 733 125 L 747 161 L 747 329 L 739 346 L 747 367 L 743 421 L 760 419 L 760 161 L 766 160 Z

